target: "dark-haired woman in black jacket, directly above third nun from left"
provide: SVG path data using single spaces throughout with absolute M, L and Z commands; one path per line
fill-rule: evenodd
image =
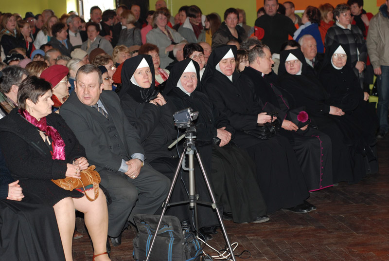
M 224 22 L 212 35 L 212 50 L 222 44 L 227 44 L 232 39 L 237 40 L 239 44 L 246 40 L 245 29 L 238 25 L 238 21 L 239 13 L 235 8 L 229 8 L 224 12 Z

